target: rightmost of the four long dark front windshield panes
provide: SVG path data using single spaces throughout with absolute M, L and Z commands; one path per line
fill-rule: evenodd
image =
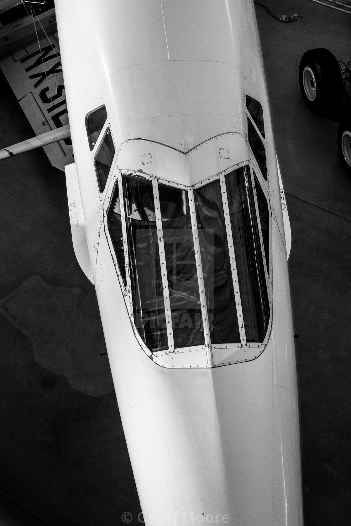
M 267 332 L 269 302 L 249 168 L 233 171 L 225 181 L 246 340 L 259 342 Z

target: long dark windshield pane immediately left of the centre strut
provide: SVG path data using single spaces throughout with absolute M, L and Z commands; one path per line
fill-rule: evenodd
M 174 346 L 203 345 L 204 329 L 188 193 L 158 185 Z

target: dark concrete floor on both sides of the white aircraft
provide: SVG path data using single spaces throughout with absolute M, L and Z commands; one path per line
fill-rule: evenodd
M 351 517 L 351 178 L 337 123 L 309 112 L 298 65 L 309 48 L 351 58 L 351 17 L 299 0 L 256 6 L 289 258 L 306 526 Z M 33 135 L 0 77 L 0 147 Z M 1 161 L 0 524 L 116 526 L 140 511 L 94 287 L 74 256 L 64 174 L 42 150 Z M 233 525 L 234 526 L 234 525 Z M 236 525 L 235 525 L 236 526 Z M 240 525 L 237 525 L 240 526 Z

